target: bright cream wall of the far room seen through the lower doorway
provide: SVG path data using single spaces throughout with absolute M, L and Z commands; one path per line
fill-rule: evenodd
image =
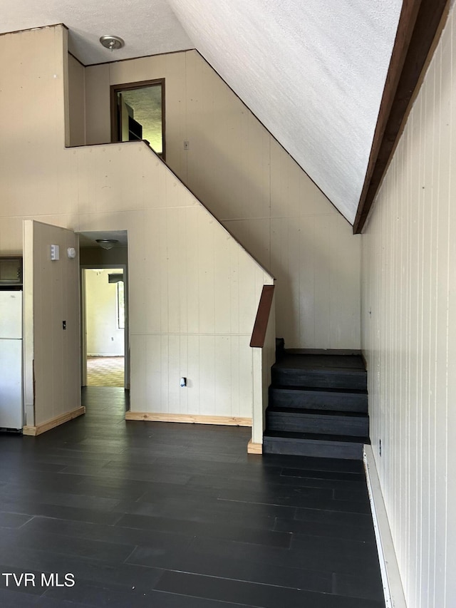
M 124 329 L 118 328 L 117 283 L 109 274 L 122 268 L 86 269 L 86 331 L 88 356 L 123 356 Z

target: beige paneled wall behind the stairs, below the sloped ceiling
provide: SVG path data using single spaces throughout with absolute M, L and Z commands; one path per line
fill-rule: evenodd
M 167 163 L 276 277 L 277 335 L 359 349 L 361 238 L 199 53 L 86 68 L 87 143 L 110 141 L 110 85 L 151 78 L 165 78 Z

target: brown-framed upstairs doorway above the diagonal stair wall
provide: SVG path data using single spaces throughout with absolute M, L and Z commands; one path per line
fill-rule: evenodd
M 165 160 L 165 78 L 111 86 L 111 138 L 145 140 Z

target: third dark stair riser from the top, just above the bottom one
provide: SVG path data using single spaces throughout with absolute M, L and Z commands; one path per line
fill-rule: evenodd
M 290 414 L 267 413 L 266 428 L 271 431 L 291 431 L 292 433 L 322 433 L 327 435 L 349 435 L 364 437 L 369 434 L 368 419 L 357 420 L 351 416 L 291 416 Z

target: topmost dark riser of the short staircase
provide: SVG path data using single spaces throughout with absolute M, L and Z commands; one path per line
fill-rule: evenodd
M 302 371 L 300 369 L 272 369 L 273 384 L 281 386 L 309 386 L 311 388 L 354 388 L 366 391 L 366 373 Z

